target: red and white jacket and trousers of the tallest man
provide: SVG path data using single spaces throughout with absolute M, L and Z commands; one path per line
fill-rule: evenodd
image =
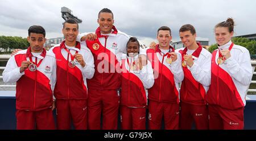
M 129 36 L 112 27 L 110 34 L 101 34 L 100 27 L 96 30 L 97 39 L 88 41 L 86 46 L 94 57 L 95 74 L 88 80 L 88 125 L 89 129 L 117 129 L 119 94 L 121 75 L 118 60 L 126 52 Z M 78 36 L 81 39 L 83 35 Z M 143 49 L 140 50 L 143 52 Z M 146 53 L 144 53 L 146 54 Z

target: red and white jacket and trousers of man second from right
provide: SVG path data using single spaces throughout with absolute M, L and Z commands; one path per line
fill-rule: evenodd
M 180 129 L 191 129 L 195 122 L 196 129 L 208 129 L 208 108 L 205 94 L 210 85 L 210 60 L 212 55 L 197 43 L 198 48 L 182 48 L 181 56 L 192 55 L 192 67 L 183 66 L 184 80 L 180 88 Z M 182 57 L 182 60 L 183 57 Z

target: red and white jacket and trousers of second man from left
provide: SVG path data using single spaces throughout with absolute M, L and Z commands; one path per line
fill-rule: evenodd
M 49 51 L 55 54 L 57 65 L 57 80 L 54 89 L 57 128 L 70 129 L 72 120 L 76 129 L 87 129 L 88 89 L 86 79 L 92 78 L 94 74 L 92 53 L 84 44 L 77 42 L 76 47 L 68 47 L 65 45 L 65 41 L 59 47 L 52 47 Z M 69 53 L 82 55 L 85 67 L 82 68 L 76 60 L 76 66 L 69 67 L 69 61 L 72 60 Z

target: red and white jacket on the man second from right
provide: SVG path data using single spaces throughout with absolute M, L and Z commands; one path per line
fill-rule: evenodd
M 186 54 L 192 55 L 192 67 L 183 67 L 184 80 L 181 82 L 180 87 L 180 100 L 185 103 L 193 105 L 205 105 L 205 94 L 207 93 L 210 85 L 210 60 L 212 55 L 209 51 L 201 47 L 195 51 L 188 52 L 188 48 L 181 48 L 179 52 L 182 56 Z

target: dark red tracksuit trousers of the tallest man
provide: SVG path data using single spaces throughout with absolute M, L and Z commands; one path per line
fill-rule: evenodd
M 93 130 L 117 129 L 119 96 L 117 90 L 88 89 L 88 127 Z

